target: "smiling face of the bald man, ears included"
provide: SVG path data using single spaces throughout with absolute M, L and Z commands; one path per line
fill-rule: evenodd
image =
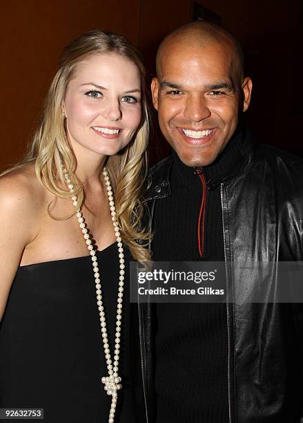
M 153 103 L 164 137 L 187 166 L 211 164 L 248 108 L 251 79 L 241 84 L 233 60 L 226 44 L 164 48 Z

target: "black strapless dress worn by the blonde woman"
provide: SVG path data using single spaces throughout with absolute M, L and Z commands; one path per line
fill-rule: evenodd
M 97 252 L 113 357 L 117 244 Z M 130 254 L 126 250 L 126 285 Z M 0 330 L 0 408 L 43 408 L 47 423 L 108 422 L 110 399 L 90 256 L 19 267 Z M 115 423 L 135 422 L 130 303 L 124 291 Z

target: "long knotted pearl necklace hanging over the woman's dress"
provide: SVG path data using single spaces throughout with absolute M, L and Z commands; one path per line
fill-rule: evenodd
M 68 189 L 70 190 L 70 193 L 75 192 L 75 187 L 72 185 L 70 176 L 68 176 L 68 173 L 65 169 L 65 167 L 62 166 L 62 171 L 64 173 L 64 178 L 66 180 L 66 183 L 68 184 Z M 115 417 L 115 411 L 117 406 L 117 391 L 121 389 L 121 385 L 119 382 L 121 382 L 121 377 L 118 376 L 118 366 L 119 366 L 119 352 L 120 352 L 120 332 L 121 332 L 121 314 L 122 314 L 122 299 L 123 299 L 123 291 L 124 291 L 124 250 L 122 246 L 122 239 L 120 236 L 119 231 L 119 225 L 116 221 L 116 211 L 115 211 L 115 203 L 113 198 L 113 191 L 110 184 L 110 178 L 108 176 L 108 172 L 106 170 L 106 167 L 104 167 L 103 170 L 103 176 L 105 180 L 105 185 L 107 189 L 107 195 L 108 195 L 108 204 L 110 205 L 110 214 L 112 216 L 113 220 L 113 226 L 115 230 L 115 236 L 117 239 L 117 245 L 118 245 L 118 252 L 119 252 L 119 292 L 118 292 L 118 299 L 117 299 L 117 321 L 116 321 L 116 334 L 115 334 L 115 355 L 114 355 L 114 362 L 111 359 L 110 355 L 110 349 L 108 344 L 108 335 L 107 335 L 107 329 L 106 329 L 106 319 L 104 315 L 104 306 L 102 302 L 102 292 L 101 292 L 101 279 L 99 274 L 99 265 L 96 257 L 96 252 L 94 250 L 94 247 L 92 246 L 92 241 L 90 240 L 90 235 L 88 234 L 88 229 L 86 228 L 86 223 L 84 223 L 84 218 L 82 217 L 81 209 L 79 208 L 78 202 L 77 202 L 77 196 L 72 196 L 72 204 L 76 207 L 77 213 L 76 216 L 78 218 L 79 227 L 83 233 L 84 241 L 86 242 L 86 245 L 88 247 L 88 251 L 90 252 L 90 256 L 92 259 L 92 270 L 94 271 L 95 276 L 95 284 L 96 284 L 96 294 L 97 294 L 97 306 L 99 310 L 100 315 L 100 326 L 101 326 L 101 334 L 102 334 L 102 340 L 103 340 L 103 346 L 104 346 L 104 354 L 106 358 L 106 364 L 108 369 L 108 376 L 104 376 L 101 378 L 101 382 L 104 384 L 104 390 L 108 395 L 112 396 L 112 402 L 110 406 L 110 413 L 108 417 L 108 423 L 114 423 L 114 417 Z M 114 364 L 114 366 L 113 366 Z

